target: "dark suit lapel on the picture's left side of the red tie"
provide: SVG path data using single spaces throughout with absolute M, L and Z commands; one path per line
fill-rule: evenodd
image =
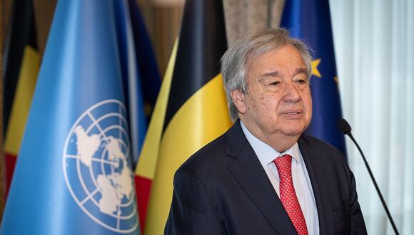
M 235 157 L 228 170 L 278 234 L 295 234 L 281 200 L 268 179 L 256 153 L 246 140 L 239 122 L 228 132 L 226 154 Z

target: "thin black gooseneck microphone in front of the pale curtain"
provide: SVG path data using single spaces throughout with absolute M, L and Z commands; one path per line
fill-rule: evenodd
M 397 229 L 397 226 L 395 226 L 395 224 L 394 224 L 393 217 L 391 216 L 390 211 L 388 210 L 387 204 L 385 203 L 385 200 L 384 200 L 384 198 L 383 198 L 383 194 L 381 194 L 381 192 L 380 192 L 380 188 L 378 187 L 378 184 L 377 184 L 377 182 L 375 181 L 375 178 L 374 178 L 373 172 L 371 172 L 370 166 L 369 166 L 369 164 L 368 164 L 367 160 L 365 159 L 365 156 L 364 156 L 364 154 L 363 154 L 362 150 L 360 149 L 360 147 L 359 147 L 358 143 L 357 143 L 357 142 L 356 142 L 356 140 L 353 138 L 353 135 L 352 135 L 352 133 L 350 132 L 352 129 L 351 129 L 351 127 L 350 127 L 349 123 L 348 123 L 345 119 L 341 118 L 341 119 L 338 121 L 338 127 L 339 127 L 339 130 L 340 130 L 341 132 L 343 132 L 343 134 L 348 135 L 348 136 L 350 137 L 350 139 L 351 139 L 351 140 L 355 143 L 356 147 L 358 148 L 358 150 L 359 150 L 359 152 L 360 152 L 360 155 L 363 157 L 363 161 L 364 161 L 364 163 L 365 163 L 365 167 L 367 167 L 367 169 L 368 169 L 368 173 L 370 174 L 370 177 L 371 177 L 371 179 L 373 180 L 373 183 L 374 183 L 375 189 L 377 189 L 378 196 L 380 197 L 381 202 L 383 203 L 383 207 L 384 207 L 384 209 L 385 209 L 385 212 L 387 213 L 388 219 L 390 220 L 391 225 L 393 226 L 394 232 L 395 232 L 395 234 L 399 235 L 399 233 L 398 233 L 398 229 Z

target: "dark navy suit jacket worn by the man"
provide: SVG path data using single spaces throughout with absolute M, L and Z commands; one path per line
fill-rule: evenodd
M 366 234 L 355 179 L 343 155 L 308 135 L 298 145 L 320 234 Z M 165 234 L 296 234 L 240 122 L 177 170 Z

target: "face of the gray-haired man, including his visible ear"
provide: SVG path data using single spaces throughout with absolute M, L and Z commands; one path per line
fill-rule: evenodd
M 299 137 L 312 116 L 306 64 L 299 52 L 286 45 L 247 64 L 247 93 L 232 92 L 243 123 L 264 142 Z

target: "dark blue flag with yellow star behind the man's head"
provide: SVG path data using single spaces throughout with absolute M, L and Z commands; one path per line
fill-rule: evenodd
M 325 140 L 346 155 L 345 138 L 338 130 L 342 117 L 328 0 L 287 0 L 281 21 L 291 36 L 313 50 L 310 89 L 313 117 L 306 132 Z

